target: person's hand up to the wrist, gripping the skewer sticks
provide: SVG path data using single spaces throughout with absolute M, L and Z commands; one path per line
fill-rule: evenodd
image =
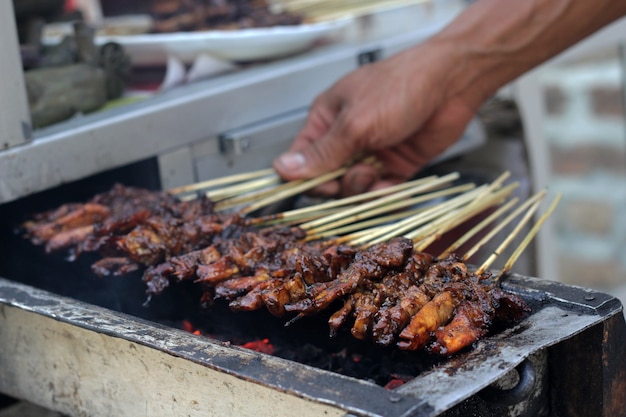
M 357 69 L 323 92 L 287 153 L 274 163 L 287 180 L 314 178 L 356 154 L 381 167 L 352 166 L 321 195 L 352 195 L 403 182 L 461 137 L 480 100 L 449 88 L 458 63 L 424 45 Z

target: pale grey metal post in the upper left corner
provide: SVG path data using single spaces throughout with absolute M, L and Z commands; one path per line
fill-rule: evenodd
M 13 2 L 0 2 L 0 153 L 2 149 L 32 139 L 22 59 L 13 16 Z

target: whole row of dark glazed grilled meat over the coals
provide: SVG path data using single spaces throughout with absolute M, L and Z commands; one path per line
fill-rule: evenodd
M 98 251 L 98 275 L 144 269 L 150 296 L 189 281 L 201 287 L 202 303 L 222 299 L 235 311 L 302 317 L 337 305 L 331 336 L 346 328 L 359 340 L 404 350 L 452 355 L 494 323 L 529 311 L 521 298 L 490 285 L 489 274 L 471 273 L 454 255 L 417 252 L 410 239 L 366 249 L 311 243 L 298 227 L 257 228 L 236 214 L 213 213 L 202 198 L 183 202 L 116 186 L 38 215 L 24 229 L 48 251 Z

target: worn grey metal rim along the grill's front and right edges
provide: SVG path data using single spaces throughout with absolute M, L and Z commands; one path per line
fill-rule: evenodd
M 0 277 L 0 307 L 30 311 L 361 416 L 435 416 L 488 386 L 533 353 L 623 311 L 601 292 L 511 274 L 503 283 L 533 306 L 519 325 L 395 390 L 59 296 Z M 497 352 L 497 354 L 494 354 Z M 277 370 L 280 370 L 277 372 Z

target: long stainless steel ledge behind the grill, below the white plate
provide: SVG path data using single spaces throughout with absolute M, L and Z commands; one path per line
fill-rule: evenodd
M 377 40 L 353 35 L 342 44 L 39 130 L 31 143 L 0 152 L 0 203 L 181 147 L 217 140 L 232 129 L 304 109 L 319 92 L 356 68 L 363 53 L 375 50 L 385 57 L 419 43 L 457 12 L 458 8 L 429 9 L 426 5 L 407 33 Z M 367 26 L 372 22 L 358 22 L 363 32 L 369 33 Z M 11 116 L 8 120 L 20 119 Z

